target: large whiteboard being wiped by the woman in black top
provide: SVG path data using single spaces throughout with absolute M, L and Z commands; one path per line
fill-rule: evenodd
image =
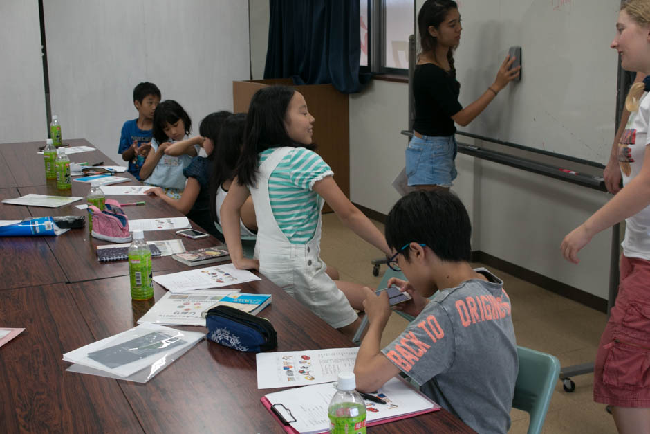
M 618 53 L 609 45 L 619 8 L 618 0 L 458 1 L 463 107 L 494 82 L 510 46 L 521 46 L 523 63 L 521 82 L 458 130 L 605 163 L 615 134 Z

